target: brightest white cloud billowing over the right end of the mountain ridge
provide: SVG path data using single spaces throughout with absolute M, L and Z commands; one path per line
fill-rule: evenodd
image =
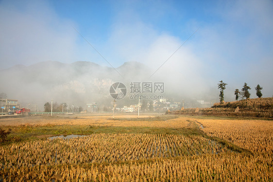
M 114 48 L 116 57 L 146 64 L 151 72 L 141 75 L 142 78 L 146 77 L 145 81 L 163 81 L 169 88 L 169 91 L 166 88 L 169 93 L 197 97 L 201 90 L 196 89 L 196 86 L 202 88 L 202 91 L 209 90 L 205 85 L 204 65 L 187 44 L 172 55 L 183 41 L 185 40 L 175 36 L 160 34 L 152 26 L 138 21 L 131 24 L 116 24 L 109 45 Z M 171 58 L 154 73 L 170 56 Z

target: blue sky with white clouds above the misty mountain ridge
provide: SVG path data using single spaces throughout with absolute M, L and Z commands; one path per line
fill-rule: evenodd
M 159 75 L 188 75 L 182 84 L 192 87 L 259 83 L 272 96 L 272 17 L 272 0 L 1 0 L 0 68 L 48 60 L 109 66 L 75 27 L 114 67 L 138 61 L 156 70 L 199 28 Z

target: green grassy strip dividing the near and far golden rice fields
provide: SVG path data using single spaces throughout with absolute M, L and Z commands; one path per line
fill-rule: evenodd
M 197 125 L 196 125 L 197 126 Z M 204 132 L 198 127 L 169 128 L 169 127 L 109 127 L 109 126 L 82 126 L 82 125 L 46 125 L 46 126 L 7 126 L 4 129 L 10 131 L 6 142 L 24 142 L 29 140 L 47 139 L 57 135 L 91 135 L 94 133 L 147 133 L 147 134 L 182 134 L 185 136 L 201 135 Z

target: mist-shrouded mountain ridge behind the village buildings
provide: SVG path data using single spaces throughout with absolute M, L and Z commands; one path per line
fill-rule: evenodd
M 37 104 L 39 108 L 51 99 L 57 103 L 65 102 L 82 107 L 93 102 L 101 106 L 111 106 L 113 98 L 109 94 L 109 89 L 115 82 L 122 82 L 127 88 L 126 97 L 118 102 L 120 107 L 138 103 L 137 99 L 129 99 L 133 94 L 130 93 L 131 82 L 163 82 L 164 92 L 157 95 L 173 98 L 177 102 L 185 100 L 186 96 L 190 99 L 187 89 L 183 88 L 181 83 L 176 83 L 175 79 L 168 80 L 169 77 L 159 76 L 149 78 L 151 70 L 147 65 L 139 62 L 126 62 L 116 69 L 90 62 L 71 64 L 41 62 L 28 67 L 17 65 L 2 70 L 2 73 L 9 77 L 8 79 L 1 77 L 0 83 L 9 85 L 3 89 L 9 97 L 16 97 L 26 106 Z M 174 87 L 176 90 L 171 89 Z M 189 90 L 194 92 L 194 89 L 188 88 Z M 183 91 L 184 98 L 179 94 Z M 209 97 L 206 98 L 209 99 Z

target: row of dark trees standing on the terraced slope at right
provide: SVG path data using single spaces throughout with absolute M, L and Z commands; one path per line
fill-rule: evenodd
M 224 83 L 222 80 L 219 82 L 220 82 L 218 84 L 218 89 L 220 89 L 219 98 L 220 98 L 220 103 L 222 104 L 224 102 L 224 90 L 225 90 L 225 86 L 227 85 L 227 83 Z M 256 95 L 258 96 L 258 98 L 261 98 L 263 95 L 261 92 L 262 89 L 263 88 L 259 84 L 255 87 Z M 244 98 L 248 99 L 250 97 L 250 93 L 248 90 L 251 90 L 251 88 L 249 86 L 247 86 L 247 83 L 244 83 L 241 91 L 239 91 L 239 89 L 236 89 L 234 91 L 235 99 L 238 100 L 239 97 L 241 97 L 242 100 Z

